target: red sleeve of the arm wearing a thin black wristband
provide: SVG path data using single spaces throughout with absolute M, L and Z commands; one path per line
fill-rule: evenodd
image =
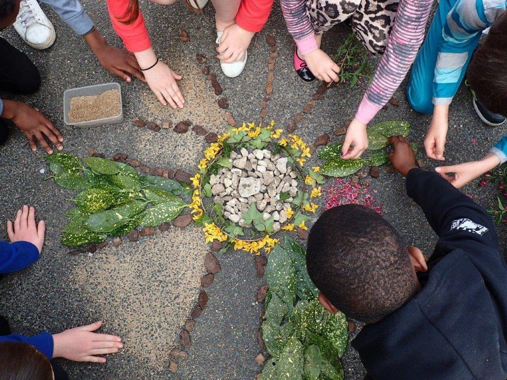
M 125 14 L 128 8 L 128 0 L 106 0 L 106 2 L 113 29 L 122 39 L 125 48 L 133 53 L 150 48 L 152 44 L 141 12 L 139 11 L 139 16 L 133 24 L 125 25 L 120 22 L 119 18 Z

